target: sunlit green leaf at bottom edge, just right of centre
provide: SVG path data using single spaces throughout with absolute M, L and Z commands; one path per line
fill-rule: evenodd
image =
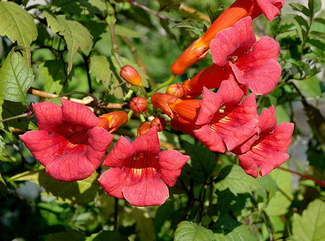
M 213 241 L 214 236 L 211 230 L 199 226 L 197 223 L 182 221 L 177 225 L 174 233 L 174 241 Z

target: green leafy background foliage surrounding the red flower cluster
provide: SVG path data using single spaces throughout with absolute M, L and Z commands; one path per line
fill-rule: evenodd
M 100 100 L 95 112 L 102 114 L 110 110 L 105 108 L 109 103 L 123 103 L 126 88 L 119 85 L 120 67 L 111 51 L 105 2 L 41 2 L 0 2 L 0 115 L 1 119 L 22 115 L 0 122 L 1 240 L 324 239 L 325 11 L 321 0 L 306 5 L 292 0 L 271 23 L 264 16 L 254 20 L 257 36 L 267 34 L 280 43 L 279 84 L 267 96 L 258 97 L 257 107 L 260 113 L 274 105 L 278 123 L 295 123 L 291 158 L 283 165 L 291 171 L 277 168 L 253 179 L 238 166 L 236 156 L 213 153 L 167 127 L 160 140 L 185 150 L 191 159 L 169 188 L 170 198 L 161 207 L 146 208 L 106 195 L 96 172 L 77 182 L 54 180 L 18 138 L 37 129 L 31 102 L 60 99 L 47 99 L 49 95 L 35 90 L 56 95 L 92 93 Z M 112 1 L 115 33 L 123 63 L 133 65 L 144 87 L 150 88 L 168 78 L 170 65 L 181 51 L 204 33 L 220 14 L 221 5 L 225 9 L 232 1 L 137 2 L 165 18 L 130 2 Z M 197 11 L 191 13 L 188 7 Z M 210 63 L 208 55 L 175 82 L 182 83 Z M 91 105 L 89 97 L 73 97 Z M 134 138 L 139 123 L 129 121 L 114 134 L 114 141 L 118 134 Z

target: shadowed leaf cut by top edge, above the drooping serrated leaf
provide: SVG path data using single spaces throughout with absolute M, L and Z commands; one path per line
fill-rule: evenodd
M 91 14 L 102 14 L 106 11 L 106 4 L 103 0 L 52 0 L 55 11 L 71 12 L 78 16 Z

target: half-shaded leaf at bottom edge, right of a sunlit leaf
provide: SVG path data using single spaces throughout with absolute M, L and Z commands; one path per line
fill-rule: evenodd
M 221 241 L 257 241 L 258 239 L 246 226 L 228 216 L 221 217 L 212 227 L 214 237 Z

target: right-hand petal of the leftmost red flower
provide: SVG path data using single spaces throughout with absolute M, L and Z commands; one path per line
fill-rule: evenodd
M 107 130 L 100 127 L 94 127 L 88 130 L 88 147 L 86 155 L 94 169 L 97 169 L 103 159 L 110 143 L 113 140 L 113 135 Z

